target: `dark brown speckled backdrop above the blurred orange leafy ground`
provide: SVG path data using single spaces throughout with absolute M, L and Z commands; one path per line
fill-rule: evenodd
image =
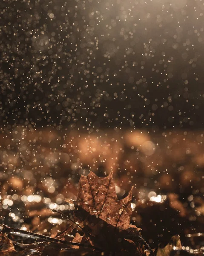
M 1 1 L 1 126 L 202 128 L 203 11 L 197 0 Z

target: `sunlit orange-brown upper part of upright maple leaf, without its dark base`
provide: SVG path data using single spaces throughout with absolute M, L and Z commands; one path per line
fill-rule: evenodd
M 78 204 L 91 215 L 97 215 L 108 224 L 126 229 L 129 227 L 132 215 L 132 189 L 126 198 L 118 200 L 112 172 L 104 178 L 90 172 L 88 176 L 80 177 Z

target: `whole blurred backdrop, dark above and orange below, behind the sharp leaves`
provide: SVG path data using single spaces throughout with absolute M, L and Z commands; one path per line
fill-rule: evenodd
M 135 186 L 132 223 L 152 247 L 175 234 L 204 246 L 203 12 L 1 1 L 1 222 L 54 236 L 66 223 L 49 209 L 71 210 L 81 174 L 113 170 L 118 198 Z

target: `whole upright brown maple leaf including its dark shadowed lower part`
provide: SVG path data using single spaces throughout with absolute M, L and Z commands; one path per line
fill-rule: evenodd
M 83 224 L 82 231 L 92 245 L 117 255 L 123 251 L 126 255 L 141 256 L 146 255 L 145 248 L 151 250 L 140 229 L 129 224 L 132 189 L 126 198 L 118 200 L 112 172 L 104 178 L 93 172 L 80 177 L 74 215 Z

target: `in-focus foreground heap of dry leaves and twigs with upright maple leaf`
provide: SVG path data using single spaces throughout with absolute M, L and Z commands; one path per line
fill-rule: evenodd
M 93 172 L 81 176 L 77 201 L 68 215 L 66 229 L 55 237 L 44 236 L 1 224 L 0 256 L 171 256 L 183 252 L 179 236 L 164 247 L 152 250 L 141 236 L 141 229 L 130 224 L 132 189 L 118 200 L 112 172 L 98 177 Z M 37 218 L 37 216 L 36 216 Z M 174 252 L 179 254 L 172 254 Z M 201 255 L 202 252 L 199 253 Z

